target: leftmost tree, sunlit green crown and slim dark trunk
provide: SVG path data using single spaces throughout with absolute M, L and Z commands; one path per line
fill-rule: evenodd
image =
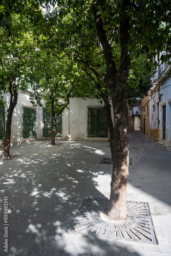
M 3 152 L 3 159 L 9 159 L 11 121 L 17 104 L 17 90 L 25 90 L 28 86 L 29 76 L 32 77 L 30 67 L 36 58 L 37 49 L 29 18 L 11 12 L 10 8 L 6 10 L 5 6 L 0 6 L 1 15 L 3 14 L 0 27 L 0 94 L 10 93 Z

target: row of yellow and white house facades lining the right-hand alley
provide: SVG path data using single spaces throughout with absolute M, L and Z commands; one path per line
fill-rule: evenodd
M 152 90 L 141 100 L 141 132 L 166 150 L 171 150 L 170 72 L 170 63 L 161 63 Z

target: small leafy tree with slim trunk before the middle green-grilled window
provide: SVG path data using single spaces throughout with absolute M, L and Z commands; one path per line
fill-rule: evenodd
M 39 77 L 39 85 L 36 88 L 33 84 L 35 93 L 31 95 L 31 102 L 35 103 L 34 98 L 39 90 L 45 101 L 44 104 L 51 109 L 53 116 L 52 144 L 55 144 L 56 118 L 69 104 L 69 97 L 85 98 L 91 95 L 100 99 L 102 96 L 105 102 L 109 102 L 109 97 L 104 95 L 100 83 L 97 84 L 91 74 L 85 79 L 84 72 L 87 74 L 88 72 L 80 66 L 80 61 L 82 61 L 78 59 L 80 52 L 77 52 L 76 57 L 75 46 L 70 44 L 69 39 L 66 38 L 65 19 L 66 17 L 60 22 L 60 25 L 56 24 L 53 14 L 47 10 L 45 19 L 42 20 L 44 26 L 36 31 L 41 57 L 38 63 L 36 62 L 37 67 L 35 65 L 34 68 L 34 73 L 36 72 Z M 78 43 L 76 44 L 78 45 Z M 97 73 L 95 70 L 94 72 Z M 104 86 L 104 82 L 102 80 L 101 82 Z

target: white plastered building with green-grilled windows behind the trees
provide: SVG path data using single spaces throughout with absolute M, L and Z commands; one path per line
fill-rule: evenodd
M 26 143 L 35 139 L 50 139 L 52 116 L 39 105 L 29 101 L 29 91 L 18 91 L 17 105 L 13 111 L 11 144 Z M 0 146 L 3 147 L 10 94 L 4 95 L 1 105 Z M 111 108 L 112 109 L 112 108 Z M 112 113 L 113 116 L 113 113 Z M 69 108 L 57 120 L 56 140 L 109 141 L 105 109 L 97 99 L 70 98 Z

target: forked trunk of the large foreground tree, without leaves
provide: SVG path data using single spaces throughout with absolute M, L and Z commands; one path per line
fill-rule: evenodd
M 123 10 L 119 28 L 121 59 L 120 67 L 117 70 L 109 40 L 103 28 L 101 14 L 96 1 L 94 1 L 95 24 L 107 66 L 104 82 L 110 91 L 114 109 L 114 164 L 110 203 L 108 210 L 105 212 L 105 218 L 110 222 L 122 222 L 126 219 L 126 190 L 127 176 L 129 174 L 129 131 L 127 125 L 125 85 L 129 77 L 130 58 L 127 55 L 127 48 L 125 46 L 128 44 L 130 38 L 130 18 L 127 15 L 129 4 L 129 0 L 122 1 Z

